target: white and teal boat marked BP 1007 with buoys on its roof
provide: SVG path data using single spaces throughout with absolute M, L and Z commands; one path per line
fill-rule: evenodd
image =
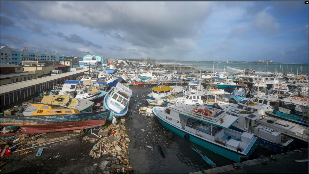
M 153 107 L 152 111 L 167 129 L 233 161 L 248 159 L 256 148 L 253 134 L 230 129 L 238 117 L 226 111 L 197 104 Z

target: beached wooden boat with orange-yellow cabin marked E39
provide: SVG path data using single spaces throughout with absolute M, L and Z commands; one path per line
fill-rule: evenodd
M 61 109 L 58 105 L 28 103 L 23 104 L 17 114 L 1 116 L 1 126 L 18 126 L 23 133 L 87 129 L 105 124 L 109 110 L 83 112 L 76 109 Z

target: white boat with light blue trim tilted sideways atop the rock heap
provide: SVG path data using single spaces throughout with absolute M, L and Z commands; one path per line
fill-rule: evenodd
M 124 116 L 129 110 L 129 101 L 131 99 L 132 90 L 129 89 L 129 83 L 125 86 L 117 83 L 116 86 L 108 92 L 104 97 L 104 104 L 101 106 L 104 110 L 110 109 L 108 120 Z

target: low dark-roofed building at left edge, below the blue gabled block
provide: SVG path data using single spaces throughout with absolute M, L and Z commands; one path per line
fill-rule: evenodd
M 23 67 L 18 65 L 0 64 L 0 85 L 21 82 L 38 78 L 36 72 L 23 72 Z

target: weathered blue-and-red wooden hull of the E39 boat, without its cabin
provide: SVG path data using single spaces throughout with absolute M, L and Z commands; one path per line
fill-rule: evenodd
M 102 126 L 110 110 L 79 114 L 2 116 L 1 126 L 23 127 L 23 133 L 44 133 Z

